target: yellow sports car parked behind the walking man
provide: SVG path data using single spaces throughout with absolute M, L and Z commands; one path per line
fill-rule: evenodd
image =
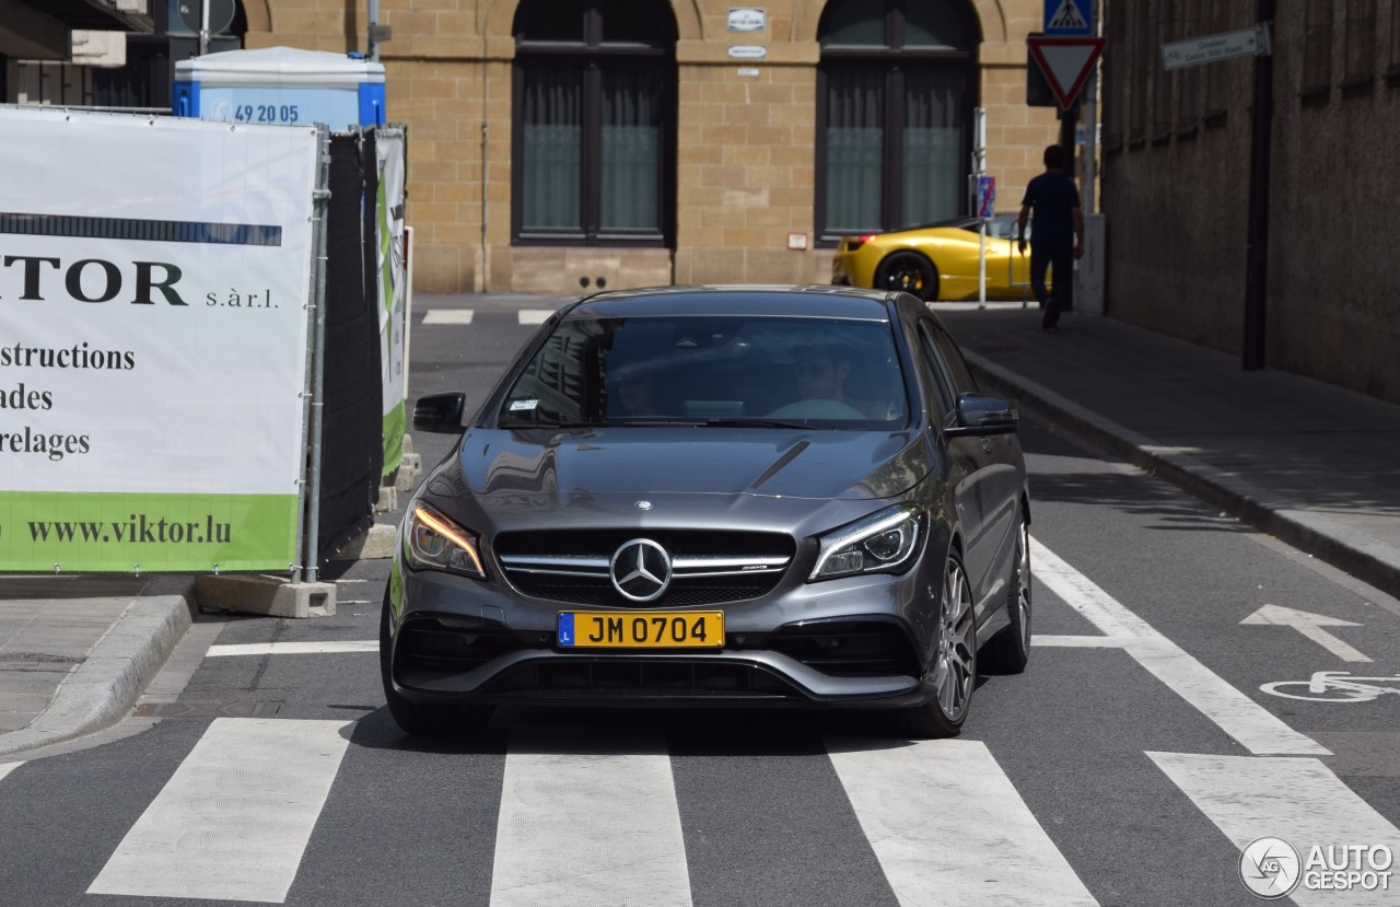
M 841 237 L 832 259 L 832 283 L 904 290 L 934 301 L 976 300 L 979 224 L 976 217 L 893 232 Z M 1026 224 L 1026 239 L 1030 224 Z M 1050 280 L 1046 279 L 1049 286 Z M 1028 300 L 1030 246 L 1016 249 L 1016 216 L 987 220 L 987 298 Z

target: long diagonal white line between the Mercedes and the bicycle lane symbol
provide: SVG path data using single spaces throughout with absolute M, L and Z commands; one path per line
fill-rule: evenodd
M 1331 750 L 1294 731 L 1267 708 L 1232 687 L 1092 579 L 1060 560 L 1039 540 L 1030 544 L 1030 572 L 1105 635 L 1123 638 L 1123 649 L 1128 655 L 1249 752 L 1274 756 L 1331 756 Z

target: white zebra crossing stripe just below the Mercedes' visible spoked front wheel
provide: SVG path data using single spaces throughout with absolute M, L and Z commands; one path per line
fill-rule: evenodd
M 1098 904 L 986 743 L 826 749 L 902 907 Z

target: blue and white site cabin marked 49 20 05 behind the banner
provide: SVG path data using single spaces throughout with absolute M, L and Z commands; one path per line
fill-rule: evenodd
M 382 126 L 384 64 L 297 48 L 206 53 L 175 63 L 171 112 L 241 123 Z

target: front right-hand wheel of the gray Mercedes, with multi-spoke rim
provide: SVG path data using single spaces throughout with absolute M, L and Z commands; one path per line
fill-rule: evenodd
M 916 739 L 956 736 L 977 686 L 977 626 L 967 572 L 956 551 L 948 554 L 938 606 L 938 652 L 925 683 L 932 698 L 895 714 L 899 735 Z

